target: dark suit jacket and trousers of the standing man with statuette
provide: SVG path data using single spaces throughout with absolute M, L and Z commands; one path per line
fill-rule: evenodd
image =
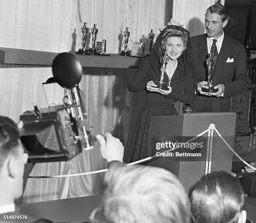
M 206 33 L 194 36 L 191 43 L 191 65 L 193 84 L 207 80 L 207 36 Z M 228 58 L 234 62 L 227 63 Z M 243 92 L 248 88 L 246 50 L 243 44 L 224 34 L 223 43 L 212 75 L 212 83 L 225 85 L 223 97 L 196 95 L 194 100 L 195 112 L 226 112 L 230 111 L 230 96 Z

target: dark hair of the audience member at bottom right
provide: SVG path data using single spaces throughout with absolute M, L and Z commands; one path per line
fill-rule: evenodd
M 224 171 L 203 176 L 189 192 L 194 223 L 237 223 L 244 203 L 238 179 Z

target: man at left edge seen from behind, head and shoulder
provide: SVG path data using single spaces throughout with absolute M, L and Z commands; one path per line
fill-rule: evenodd
M 14 200 L 23 193 L 24 153 L 17 125 L 0 116 L 0 222 L 51 222 L 19 212 Z

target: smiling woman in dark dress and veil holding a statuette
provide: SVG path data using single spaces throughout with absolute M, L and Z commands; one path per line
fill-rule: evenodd
M 128 138 L 124 161 L 127 163 L 147 157 L 148 132 L 151 115 L 175 115 L 176 101 L 191 104 L 193 86 L 191 66 L 188 58 L 189 32 L 176 25 L 169 25 L 156 38 L 149 58 L 144 58 L 133 75 L 128 89 L 131 92 L 146 90 L 146 105 L 143 105 L 138 119 Z M 169 60 L 166 65 L 164 81 L 169 90 L 157 88 L 161 69 L 161 57 L 166 53 Z

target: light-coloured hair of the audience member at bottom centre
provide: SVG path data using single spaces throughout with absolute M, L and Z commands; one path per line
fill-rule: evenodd
M 105 177 L 102 201 L 112 223 L 189 223 L 190 203 L 184 187 L 171 172 L 149 166 L 123 166 Z

